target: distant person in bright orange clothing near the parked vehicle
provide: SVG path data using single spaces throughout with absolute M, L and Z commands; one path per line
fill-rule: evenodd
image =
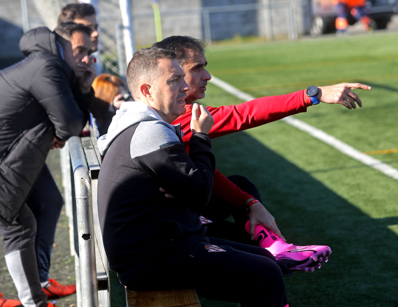
M 365 31 L 373 28 L 373 20 L 368 16 L 366 0 L 332 0 L 337 6 L 336 33 L 343 34 L 348 27 L 348 14 L 351 14 L 356 20 L 360 20 Z

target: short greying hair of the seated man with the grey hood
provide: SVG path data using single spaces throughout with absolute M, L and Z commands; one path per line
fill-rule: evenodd
M 176 59 L 176 53 L 162 48 L 144 48 L 135 51 L 127 66 L 127 85 L 135 100 L 142 82 L 151 82 L 157 76 L 160 59 Z

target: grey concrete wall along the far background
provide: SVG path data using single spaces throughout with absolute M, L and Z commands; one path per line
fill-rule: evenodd
M 29 26 L 35 28 L 45 25 L 41 14 L 37 12 L 35 4 L 44 3 L 44 0 L 27 0 L 29 10 Z M 50 0 L 48 0 L 50 1 Z M 53 1 L 53 0 L 51 0 Z M 55 0 L 54 0 L 55 1 Z M 66 0 L 54 2 L 59 6 Z M 98 21 L 104 32 L 101 32 L 101 40 L 107 40 L 107 47 L 113 54 L 117 54 L 115 44 L 115 24 L 121 22 L 119 0 L 98 0 Z M 203 22 L 203 9 L 211 9 L 214 6 L 227 6 L 234 4 L 293 2 L 295 0 L 159 0 L 163 38 L 170 35 L 190 35 L 205 39 L 205 26 Z M 309 0 L 308 0 L 309 1 Z M 74 2 L 74 0 L 70 0 Z M 135 46 L 146 47 L 156 41 L 152 0 L 131 0 L 133 29 Z M 55 4 L 53 5 L 56 6 Z M 270 37 L 287 37 L 289 31 L 288 6 L 273 9 L 271 18 L 267 10 L 241 10 L 239 12 L 213 12 L 210 13 L 211 38 L 221 40 L 236 35 L 259 35 Z M 301 8 L 299 8 L 301 10 Z M 53 15 L 57 15 L 54 13 Z M 308 15 L 308 14 L 307 14 Z M 300 33 L 303 32 L 303 24 L 306 16 L 298 13 L 297 25 Z M 270 22 L 272 26 L 270 27 Z M 21 4 L 19 0 L 0 0 L 0 57 L 12 57 L 18 55 L 18 41 L 22 35 Z

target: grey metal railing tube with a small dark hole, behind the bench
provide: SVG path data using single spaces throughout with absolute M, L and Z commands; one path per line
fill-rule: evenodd
M 75 184 L 82 307 L 98 307 L 91 179 L 80 138 L 73 136 L 68 142 Z

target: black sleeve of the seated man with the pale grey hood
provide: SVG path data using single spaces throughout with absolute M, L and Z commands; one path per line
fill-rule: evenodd
M 132 157 L 132 161 L 168 193 L 197 209 L 207 205 L 213 188 L 215 157 L 210 150 L 211 140 L 207 134 L 193 134 L 188 155 L 176 135 L 175 138 L 174 142 L 167 140 L 159 145 L 159 135 L 153 146 L 156 150 Z

